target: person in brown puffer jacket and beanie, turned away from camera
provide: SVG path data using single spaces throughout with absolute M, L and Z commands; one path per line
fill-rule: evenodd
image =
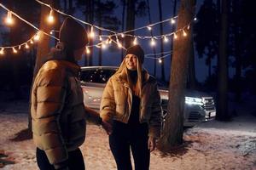
M 96 111 L 84 107 L 79 82 L 77 62 L 84 54 L 88 37 L 84 27 L 68 17 L 61 25 L 59 38 L 32 86 L 32 134 L 37 162 L 41 170 L 85 169 L 79 150 L 85 139 L 85 119 L 102 123 Z

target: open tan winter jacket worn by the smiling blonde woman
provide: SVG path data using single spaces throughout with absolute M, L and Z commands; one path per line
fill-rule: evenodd
M 124 62 L 121 66 L 124 66 Z M 120 67 L 121 67 L 120 66 Z M 160 137 L 161 106 L 160 93 L 154 77 L 144 72 L 144 82 L 140 102 L 140 122 L 148 122 L 148 136 Z M 112 119 L 127 123 L 131 115 L 132 92 L 127 82 L 125 69 L 109 78 L 102 94 L 100 115 L 103 121 Z

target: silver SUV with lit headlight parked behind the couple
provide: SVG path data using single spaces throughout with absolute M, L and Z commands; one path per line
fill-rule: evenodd
M 81 87 L 84 93 L 84 104 L 99 111 L 103 89 L 108 79 L 117 71 L 114 66 L 87 66 L 80 72 Z M 168 104 L 168 90 L 160 88 L 164 119 Z M 215 117 L 215 105 L 212 96 L 198 91 L 186 91 L 184 103 L 184 127 L 193 127 L 198 122 L 211 120 Z

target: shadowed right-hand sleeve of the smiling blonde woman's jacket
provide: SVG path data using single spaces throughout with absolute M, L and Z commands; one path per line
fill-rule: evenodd
M 153 96 L 154 99 L 152 108 L 151 108 L 151 116 L 149 119 L 149 132 L 148 136 L 152 136 L 156 139 L 160 138 L 160 130 L 161 130 L 161 117 L 162 117 L 162 108 L 161 108 L 161 99 L 160 99 L 160 92 L 157 88 L 157 84 L 154 84 L 153 88 Z

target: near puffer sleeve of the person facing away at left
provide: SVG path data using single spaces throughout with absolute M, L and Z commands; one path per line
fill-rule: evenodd
M 38 139 L 51 164 L 67 161 L 67 149 L 61 136 L 60 116 L 65 105 L 67 82 L 63 71 L 44 71 L 38 77 L 36 127 Z

